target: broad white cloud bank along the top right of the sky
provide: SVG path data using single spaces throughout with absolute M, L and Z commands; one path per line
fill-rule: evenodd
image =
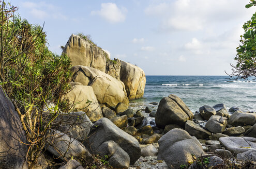
M 240 8 L 244 4 L 240 0 L 175 0 L 160 4 L 153 1 L 144 13 L 160 21 L 159 31 L 195 31 L 243 18 L 248 15 L 248 9 Z

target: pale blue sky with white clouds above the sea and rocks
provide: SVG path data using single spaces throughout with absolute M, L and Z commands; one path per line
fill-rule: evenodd
M 49 48 L 61 54 L 72 33 L 93 41 L 146 75 L 231 73 L 249 0 L 9 1 L 31 24 L 43 25 Z

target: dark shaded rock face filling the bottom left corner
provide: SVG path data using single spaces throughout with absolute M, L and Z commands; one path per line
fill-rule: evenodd
M 27 146 L 20 117 L 0 88 L 0 168 L 27 168 Z M 20 140 L 20 141 L 19 141 Z

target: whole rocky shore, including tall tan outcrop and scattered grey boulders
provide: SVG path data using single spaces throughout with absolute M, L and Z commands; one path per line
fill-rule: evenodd
M 74 103 L 73 111 L 58 114 L 33 168 L 256 167 L 255 112 L 223 103 L 192 112 L 171 93 L 159 103 L 136 108 L 134 99 L 143 97 L 146 83 L 140 67 L 111 60 L 77 35 L 71 35 L 63 53 L 72 62 L 72 90 L 63 99 Z M 0 168 L 27 168 L 19 109 L 2 89 L 0 96 Z M 55 107 L 48 102 L 44 112 Z M 93 162 L 95 156 L 100 166 Z

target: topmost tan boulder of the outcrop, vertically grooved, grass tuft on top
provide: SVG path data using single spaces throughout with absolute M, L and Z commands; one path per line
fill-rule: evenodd
M 70 57 L 72 65 L 90 66 L 106 72 L 108 54 L 82 37 L 71 35 L 63 53 Z

